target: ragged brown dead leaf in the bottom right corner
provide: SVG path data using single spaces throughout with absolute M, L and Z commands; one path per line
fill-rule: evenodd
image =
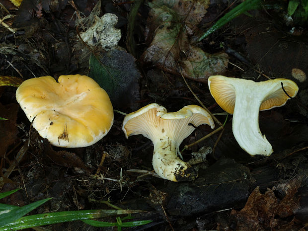
M 301 186 L 299 178 L 273 188 L 286 194 L 282 200 L 276 197 L 273 190 L 268 188 L 264 194 L 261 194 L 259 187 L 256 187 L 250 194 L 245 207 L 241 211 L 232 210 L 231 212 L 231 219 L 234 219 L 237 224 L 236 230 L 298 230 L 295 220 L 287 222 L 285 218 L 294 216 L 295 211 L 300 207 L 300 197 L 296 194 Z

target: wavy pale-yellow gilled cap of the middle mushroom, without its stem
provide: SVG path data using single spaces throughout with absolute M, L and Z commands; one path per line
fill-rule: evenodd
M 167 112 L 163 106 L 152 103 L 127 114 L 122 130 L 126 138 L 142 134 L 154 141 L 167 135 L 180 144 L 201 124 L 215 127 L 210 114 L 200 106 L 188 105 L 177 112 Z

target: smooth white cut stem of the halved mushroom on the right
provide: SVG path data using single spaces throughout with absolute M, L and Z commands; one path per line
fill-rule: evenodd
M 256 86 L 254 86 L 256 87 Z M 263 89 L 264 90 L 264 89 Z M 260 91 L 243 87 L 236 94 L 232 130 L 239 146 L 251 155 L 273 153 L 271 144 L 262 136 L 259 128 L 259 110 L 264 99 Z

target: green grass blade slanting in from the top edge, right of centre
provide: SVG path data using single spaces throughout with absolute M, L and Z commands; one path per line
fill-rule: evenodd
M 226 13 L 223 17 L 221 17 L 210 29 L 208 29 L 199 39 L 201 41 L 205 37 L 209 36 L 211 33 L 221 28 L 226 23 L 230 22 L 233 18 L 237 17 L 241 13 L 244 13 L 247 10 L 256 9 L 260 7 L 260 0 L 245 0 L 233 9 L 231 9 L 228 13 Z

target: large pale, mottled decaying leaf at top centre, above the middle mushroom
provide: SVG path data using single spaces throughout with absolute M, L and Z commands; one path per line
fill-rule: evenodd
M 205 15 L 209 0 L 154 0 L 148 4 L 148 40 L 153 40 L 142 55 L 144 62 L 152 62 L 171 73 L 182 71 L 184 77 L 203 82 L 211 75 L 225 72 L 226 53 L 205 53 L 188 38 Z

